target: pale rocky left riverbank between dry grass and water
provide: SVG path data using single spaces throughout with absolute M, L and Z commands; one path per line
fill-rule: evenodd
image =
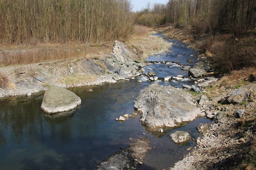
M 152 43 L 153 42 L 153 43 Z M 171 46 L 170 43 L 160 39 L 157 36 L 144 35 L 142 37 L 134 37 L 124 42 L 124 53 L 129 53 L 129 62 L 138 66 L 134 66 L 134 70 L 126 69 L 123 61 L 119 62 L 116 67 L 125 69 L 129 77 L 138 75 L 135 69 L 139 65 L 144 65 L 143 61 L 146 57 L 162 53 L 168 50 Z M 125 49 L 129 50 L 125 50 Z M 79 49 L 77 49 L 79 50 Z M 1 88 L 0 97 L 27 95 L 31 96 L 36 92 L 45 91 L 51 85 L 60 87 L 79 87 L 79 86 L 94 86 L 102 83 L 115 83 L 119 78 L 113 78 L 116 74 L 113 70 L 109 70 L 108 63 L 113 58 L 112 54 L 108 53 L 109 50 L 85 54 L 79 59 L 65 59 L 61 61 L 40 62 L 30 65 L 8 66 L 0 68 L 1 75 Z M 7 50 L 1 51 L 8 53 Z M 19 53 L 17 50 L 15 54 Z M 112 52 L 115 53 L 115 52 Z M 11 56 L 10 56 L 11 57 Z M 114 63 L 114 62 L 113 62 Z M 127 79 L 128 80 L 128 79 Z

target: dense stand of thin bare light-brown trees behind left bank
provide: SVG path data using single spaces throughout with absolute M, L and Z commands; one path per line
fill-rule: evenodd
M 0 42 L 93 44 L 133 31 L 129 0 L 0 0 Z

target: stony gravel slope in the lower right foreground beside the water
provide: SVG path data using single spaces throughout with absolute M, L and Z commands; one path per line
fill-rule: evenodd
M 193 151 L 171 169 L 255 168 L 255 81 L 248 80 L 246 86 L 237 89 L 234 84 L 230 84 L 231 86 L 227 88 L 221 87 L 220 84 L 226 82 L 224 79 L 210 85 L 212 88 L 207 88 L 202 92 L 205 94 L 216 92 L 217 96 L 212 96 L 202 104 L 199 104 L 200 98 L 195 97 L 201 111 L 207 113 L 213 122 L 203 137 L 196 139 L 197 146 Z M 238 90 L 247 92 L 241 103 L 223 102 Z M 240 94 L 235 98 L 242 99 L 242 97 Z M 241 111 L 242 114 L 240 114 Z

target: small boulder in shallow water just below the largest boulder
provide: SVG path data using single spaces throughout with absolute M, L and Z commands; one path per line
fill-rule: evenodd
M 191 139 L 191 135 L 187 131 L 175 131 L 170 133 L 169 137 L 177 144 L 185 144 Z

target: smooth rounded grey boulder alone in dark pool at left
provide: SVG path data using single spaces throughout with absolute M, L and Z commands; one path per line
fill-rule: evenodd
M 72 91 L 57 86 L 50 86 L 44 94 L 41 108 L 44 112 L 51 114 L 70 111 L 80 104 L 80 97 Z

